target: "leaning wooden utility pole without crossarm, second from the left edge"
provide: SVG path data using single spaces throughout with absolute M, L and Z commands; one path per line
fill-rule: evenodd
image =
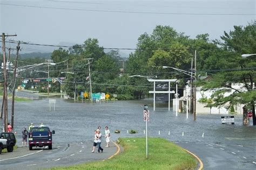
M 17 52 L 16 52 L 16 58 L 15 58 L 15 66 L 14 66 L 14 87 L 12 89 L 12 101 L 11 101 L 11 127 L 14 128 L 14 99 L 15 99 L 15 86 L 16 86 L 16 70 L 18 65 L 18 56 L 19 56 L 19 44 L 21 42 L 18 41 L 17 45 Z

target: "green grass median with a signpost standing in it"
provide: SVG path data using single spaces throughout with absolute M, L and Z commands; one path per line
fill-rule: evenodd
M 145 138 L 121 138 L 119 145 L 124 148 L 124 152 L 112 159 L 51 169 L 194 169 L 197 167 L 197 160 L 194 157 L 163 138 L 149 138 L 148 159 L 146 159 Z

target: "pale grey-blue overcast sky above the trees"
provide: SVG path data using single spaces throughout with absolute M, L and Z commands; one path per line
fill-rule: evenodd
M 11 39 L 39 44 L 82 44 L 87 38 L 97 38 L 100 46 L 134 48 L 144 32 L 152 33 L 156 25 L 170 25 L 191 38 L 209 33 L 210 39 L 219 39 L 224 31 L 233 30 L 233 25 L 255 20 L 255 2 L 0 0 L 0 32 L 17 33 Z

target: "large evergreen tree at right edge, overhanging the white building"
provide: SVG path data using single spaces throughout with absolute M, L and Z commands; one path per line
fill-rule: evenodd
M 224 32 L 221 39 L 223 42 L 216 41 L 216 44 L 224 47 L 219 50 L 221 61 L 217 61 L 220 70 L 212 75 L 212 80 L 200 83 L 203 83 L 205 90 L 217 89 L 212 95 L 213 106 L 225 105 L 230 108 L 235 104 L 246 104 L 253 111 L 253 125 L 256 125 L 256 57 L 241 58 L 243 53 L 256 53 L 256 22 L 234 26 L 234 30 Z M 208 58 L 208 61 L 215 57 Z M 216 65 L 215 62 L 212 60 L 209 64 Z

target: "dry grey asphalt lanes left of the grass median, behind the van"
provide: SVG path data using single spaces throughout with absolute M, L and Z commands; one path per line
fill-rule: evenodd
M 88 161 L 102 161 L 116 153 L 115 145 L 103 147 L 103 153 L 91 153 L 92 144 L 73 143 L 55 144 L 52 150 L 48 147 L 19 147 L 12 153 L 0 155 L 0 169 L 43 169 L 56 166 L 70 166 Z

